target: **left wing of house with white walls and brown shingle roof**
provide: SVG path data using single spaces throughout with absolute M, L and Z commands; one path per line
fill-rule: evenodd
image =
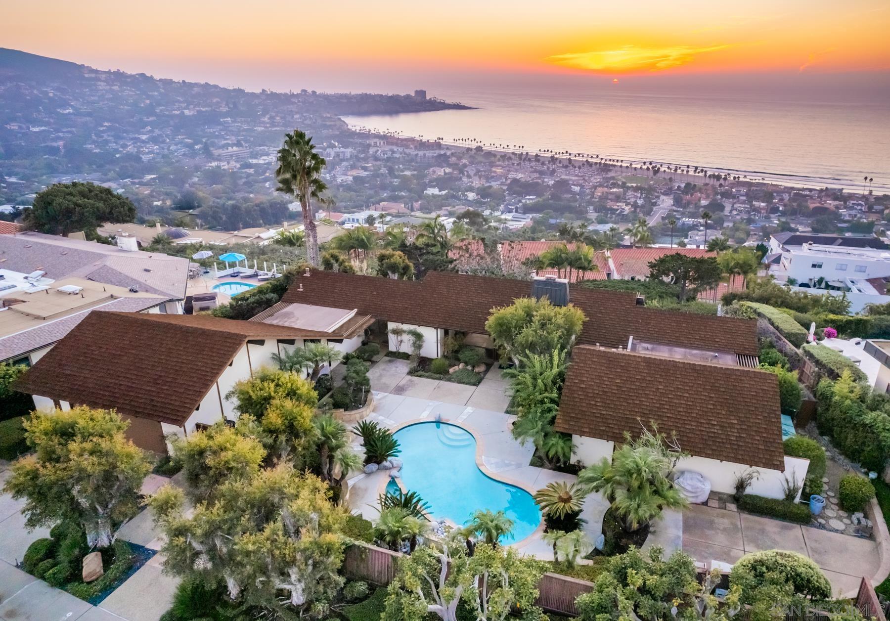
M 114 408 L 134 443 L 166 453 L 165 436 L 237 418 L 226 394 L 295 346 L 300 331 L 209 315 L 91 312 L 22 375 L 37 409 Z

